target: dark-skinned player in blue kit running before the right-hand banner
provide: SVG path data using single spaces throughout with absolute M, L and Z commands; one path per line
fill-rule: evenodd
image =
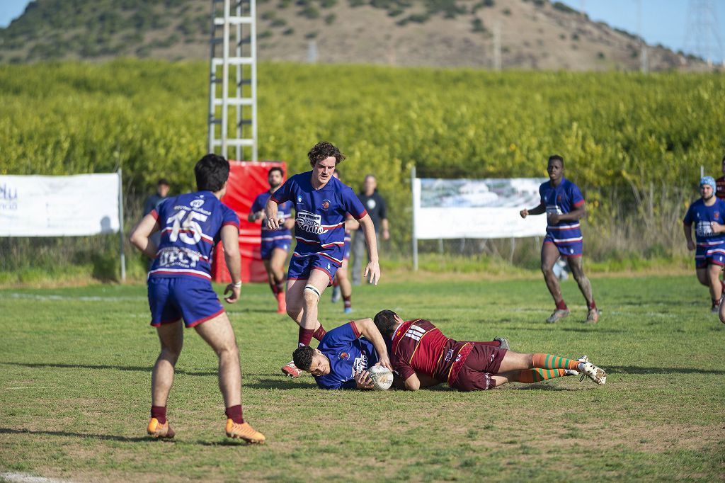
M 547 215 L 546 236 L 542 246 L 542 272 L 544 281 L 554 298 L 556 308 L 547 318 L 548 323 L 555 323 L 569 315 L 569 309 L 561 295 L 559 281 L 554 274 L 554 264 L 559 257 L 565 257 L 571 273 L 579 284 L 579 290 L 587 300 L 587 322 L 596 323 L 600 311 L 597 309 L 592 297 L 592 284 L 584 275 L 581 254 L 583 237 L 579 220 L 584 218 L 587 211 L 584 208 L 584 197 L 576 184 L 564 178 L 564 159 L 555 154 L 549 157 L 547 166 L 549 181 L 539 186 L 541 203 L 531 210 L 521 210 L 521 218 L 528 215 Z

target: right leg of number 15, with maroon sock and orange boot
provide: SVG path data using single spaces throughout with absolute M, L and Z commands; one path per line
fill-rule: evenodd
M 194 326 L 196 333 L 212 347 L 219 358 L 219 389 L 224 397 L 227 416 L 226 434 L 247 442 L 263 443 L 265 437 L 244 423 L 241 412 L 241 366 L 239 348 L 229 318 L 225 312 Z

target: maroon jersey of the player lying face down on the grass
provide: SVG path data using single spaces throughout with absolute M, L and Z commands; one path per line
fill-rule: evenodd
M 445 337 L 433 323 L 419 318 L 403 322 L 395 331 L 391 358 L 404 381 L 417 372 L 450 385 L 472 348 L 473 342 Z

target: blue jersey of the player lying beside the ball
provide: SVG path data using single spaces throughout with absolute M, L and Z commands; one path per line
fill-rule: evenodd
M 329 331 L 318 349 L 330 360 L 330 373 L 315 376 L 315 382 L 323 389 L 355 389 L 355 373 L 378 363 L 373 343 L 360 337 L 355 322 Z

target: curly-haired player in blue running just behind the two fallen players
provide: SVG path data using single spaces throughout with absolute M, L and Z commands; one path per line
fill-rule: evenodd
M 312 337 L 322 340 L 326 334 L 318 321 L 318 302 L 342 264 L 346 213 L 360 223 L 368 241 L 370 263 L 365 275 L 370 273 L 372 284 L 380 280 L 373 220 L 355 192 L 333 176 L 344 155 L 334 145 L 321 141 L 310 149 L 307 157 L 312 170 L 289 178 L 265 207 L 268 228 L 276 230 L 283 223 L 277 205 L 294 203 L 297 247 L 289 260 L 286 301 L 287 314 L 299 325 L 300 345 L 309 345 Z M 282 372 L 298 377 L 301 371 L 290 362 Z

